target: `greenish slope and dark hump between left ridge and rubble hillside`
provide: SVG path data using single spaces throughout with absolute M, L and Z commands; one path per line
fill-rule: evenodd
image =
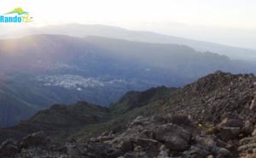
M 110 120 L 76 128 L 72 133 L 69 133 L 68 139 L 87 139 L 96 137 L 105 131 L 120 133 L 137 116 L 154 116 L 158 114 L 163 110 L 159 100 L 175 90 L 176 88 L 152 87 L 143 92 L 128 92 L 118 102 L 110 105 Z M 135 105 L 135 100 L 139 100 L 140 104 Z M 61 135 L 56 137 L 61 137 Z

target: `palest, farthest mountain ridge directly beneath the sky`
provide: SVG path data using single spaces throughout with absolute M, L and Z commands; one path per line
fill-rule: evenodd
M 38 28 L 30 28 L 23 31 L 15 31 L 6 35 L 0 36 L 2 39 L 26 37 L 33 34 L 60 34 L 71 37 L 111 37 L 125 39 L 137 42 L 152 42 L 152 43 L 172 43 L 187 45 L 199 52 L 212 52 L 224 54 L 230 59 L 243 59 L 248 61 L 256 61 L 256 50 L 248 48 L 236 48 L 223 44 L 202 42 L 181 37 L 166 36 L 149 31 L 128 31 L 119 27 L 109 25 L 51 25 Z

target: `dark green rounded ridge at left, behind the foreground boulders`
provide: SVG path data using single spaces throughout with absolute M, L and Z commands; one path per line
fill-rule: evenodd
M 54 104 L 47 110 L 38 113 L 27 121 L 20 121 L 15 127 L 1 129 L 2 138 L 22 138 L 28 133 L 44 131 L 56 135 L 63 130 L 68 131 L 88 124 L 108 121 L 110 113 L 107 108 L 78 102 L 73 105 Z M 2 139 L 3 140 L 3 139 Z

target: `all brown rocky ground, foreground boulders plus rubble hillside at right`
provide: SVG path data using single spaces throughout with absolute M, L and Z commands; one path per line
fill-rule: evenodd
M 255 94 L 253 74 L 217 71 L 177 88 L 165 98 L 154 99 L 154 104 L 141 104 L 143 112 L 131 110 L 137 114 L 134 118 L 120 122 L 117 118 L 121 117 L 116 117 L 108 130 L 96 137 L 54 144 L 53 137 L 42 131 L 16 140 L 6 139 L 0 146 L 0 155 L 253 158 L 256 157 Z M 120 106 L 122 100 L 119 102 L 114 106 Z M 129 101 L 123 99 L 123 102 Z

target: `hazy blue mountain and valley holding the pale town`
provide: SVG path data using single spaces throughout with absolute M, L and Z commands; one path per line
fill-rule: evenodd
M 0 127 L 9 127 L 51 104 L 108 106 L 130 90 L 181 87 L 236 65 L 184 45 L 33 35 L 0 41 L 0 70 Z

